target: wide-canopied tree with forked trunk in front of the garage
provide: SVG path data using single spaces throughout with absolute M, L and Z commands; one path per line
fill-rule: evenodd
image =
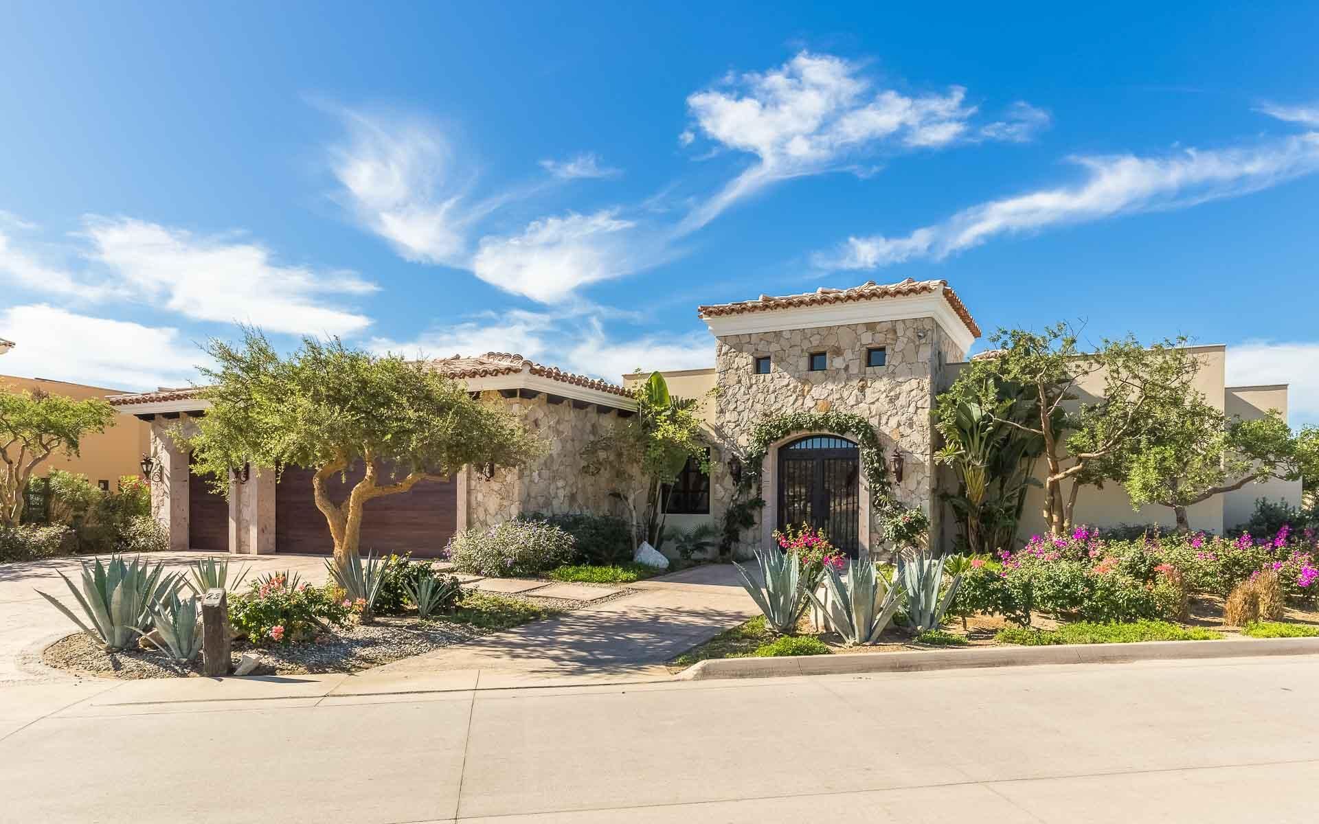
M 185 439 L 198 473 L 210 473 L 227 494 L 230 471 L 245 463 L 314 469 L 315 504 L 340 566 L 359 554 L 367 501 L 464 465 L 517 467 L 539 451 L 506 410 L 474 399 L 425 361 L 350 349 L 338 338 L 303 338 L 281 359 L 248 327 L 240 347 L 211 340 L 206 351 L 218 364 L 202 370 L 212 384 L 202 392 L 211 407 Z M 364 467 L 363 479 L 344 500 L 332 500 L 327 483 L 355 465 Z

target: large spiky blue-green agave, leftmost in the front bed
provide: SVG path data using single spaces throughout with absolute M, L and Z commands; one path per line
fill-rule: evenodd
M 55 609 L 69 616 L 84 633 L 100 639 L 107 651 L 123 650 L 133 643 L 138 634 L 152 628 L 152 609 L 165 599 L 173 597 L 182 580 L 177 575 L 166 575 L 165 564 L 148 564 L 140 558 L 132 563 L 120 555 L 111 555 L 108 563 L 100 558 L 82 564 L 82 592 L 61 572 L 59 577 L 74 593 L 82 606 L 87 624 L 67 606 L 37 591 L 37 595 L 55 605 Z

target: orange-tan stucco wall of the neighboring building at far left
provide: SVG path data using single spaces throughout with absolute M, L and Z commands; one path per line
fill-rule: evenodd
M 104 398 L 111 394 L 123 394 L 121 389 L 107 389 L 104 386 L 84 386 L 82 384 L 66 384 L 63 381 L 50 381 L 45 378 L 12 377 L 0 374 L 0 386 L 7 390 L 36 390 L 41 389 L 50 394 L 62 394 L 78 401 L 87 398 Z M 119 479 L 124 475 L 141 475 L 140 461 L 149 446 L 149 431 L 145 422 L 128 414 L 119 414 L 113 426 L 102 434 L 83 438 L 80 455 L 70 456 L 55 452 L 40 467 L 37 475 L 47 475 L 51 469 L 78 472 L 86 475 L 92 484 L 109 481 L 109 488 L 115 489 Z

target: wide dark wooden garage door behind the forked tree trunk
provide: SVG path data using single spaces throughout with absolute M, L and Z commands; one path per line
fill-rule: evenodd
M 361 480 L 361 468 L 330 481 L 330 497 L 342 501 Z M 437 558 L 458 529 L 458 484 L 421 481 L 408 492 L 367 501 L 361 517 L 361 551 L 377 555 L 412 552 Z M 274 488 L 274 547 L 277 552 L 334 551 L 330 526 L 317 509 L 311 471 L 288 467 Z

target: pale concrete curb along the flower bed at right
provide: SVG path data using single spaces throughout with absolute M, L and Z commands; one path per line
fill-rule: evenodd
M 1187 661 L 1196 658 L 1264 658 L 1319 655 L 1319 638 L 1223 641 L 1140 641 L 1134 643 L 1076 643 L 1009 646 L 979 650 L 933 650 L 797 658 L 712 658 L 698 661 L 674 678 L 714 680 L 785 678 L 794 675 L 849 675 L 860 672 L 929 672 L 988 667 L 1033 667 L 1068 663 L 1129 663 L 1134 661 Z

